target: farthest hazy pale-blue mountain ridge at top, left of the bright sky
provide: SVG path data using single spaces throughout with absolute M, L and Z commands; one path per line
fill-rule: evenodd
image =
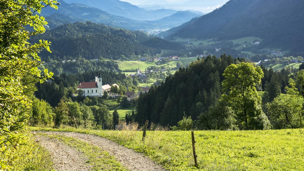
M 85 4 L 91 7 L 101 9 L 116 16 L 123 16 L 137 20 L 156 20 L 176 13 L 176 10 L 157 9 L 146 10 L 129 2 L 119 0 L 65 0 L 67 3 Z

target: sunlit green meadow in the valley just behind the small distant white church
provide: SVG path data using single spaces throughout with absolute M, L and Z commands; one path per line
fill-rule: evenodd
M 154 62 L 141 62 L 141 61 L 121 61 L 118 63 L 118 67 L 121 70 L 127 70 L 127 69 L 139 69 L 141 71 L 145 71 L 146 68 L 149 66 L 155 66 L 156 64 Z

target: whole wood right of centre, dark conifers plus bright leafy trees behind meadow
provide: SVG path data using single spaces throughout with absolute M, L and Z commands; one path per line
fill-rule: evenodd
M 299 75 L 297 71 L 288 67 L 274 72 L 272 68 L 254 67 L 244 61 L 226 55 L 220 58 L 208 56 L 193 62 L 188 68 L 181 68 L 168 76 L 166 82 L 140 94 L 136 112 L 128 115 L 127 120 L 134 119 L 144 124 L 147 119 L 162 126 L 177 126 L 184 117 L 191 117 L 198 129 L 221 130 L 301 127 L 301 124 L 276 124 L 291 104 L 282 107 L 286 107 L 286 111 L 276 113 L 277 119 L 271 113 L 276 111 L 273 109 L 273 106 L 278 106 L 276 104 L 283 105 L 290 99 L 298 99 L 291 100 L 298 108 L 292 107 L 301 112 L 294 113 L 296 110 L 293 110 L 288 115 L 302 122 L 304 109 L 297 89 L 301 81 L 297 79 L 297 84 L 293 83 L 295 76 Z M 257 91 L 265 93 L 259 96 Z

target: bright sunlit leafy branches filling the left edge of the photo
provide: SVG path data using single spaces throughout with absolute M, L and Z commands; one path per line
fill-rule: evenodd
M 39 40 L 29 44 L 28 40 L 45 31 L 47 22 L 38 15 L 41 9 L 45 6 L 57 9 L 56 4 L 55 0 L 0 1 L 0 149 L 3 156 L 0 170 L 9 170 L 14 165 L 17 159 L 10 158 L 12 150 L 23 145 L 24 137 L 17 131 L 24 126 L 32 105 L 35 88 L 31 83 L 35 79 L 43 82 L 53 75 L 47 69 L 41 74 L 38 69 L 41 64 L 38 53 L 42 49 L 50 52 L 50 42 Z M 28 145 L 18 149 L 22 148 Z M 27 164 L 34 164 L 31 162 Z

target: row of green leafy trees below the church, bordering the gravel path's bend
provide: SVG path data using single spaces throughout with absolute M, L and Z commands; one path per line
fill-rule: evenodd
M 86 98 L 86 101 L 90 99 Z M 84 101 L 85 102 L 85 101 Z M 29 112 L 31 126 L 54 126 L 62 124 L 72 127 L 113 129 L 119 123 L 117 110 L 110 113 L 104 106 L 87 106 L 85 103 L 73 102 L 62 98 L 56 107 L 50 106 L 45 100 L 33 99 L 33 106 Z

